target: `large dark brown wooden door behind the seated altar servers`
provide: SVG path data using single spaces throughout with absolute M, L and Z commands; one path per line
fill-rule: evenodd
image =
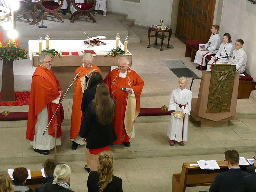
M 181 41 L 201 40 L 207 42 L 216 0 L 180 0 L 175 36 Z

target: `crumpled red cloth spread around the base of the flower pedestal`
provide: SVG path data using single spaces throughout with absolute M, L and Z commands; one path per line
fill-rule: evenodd
M 22 106 L 22 105 L 28 105 L 29 104 L 29 98 L 30 98 L 30 92 L 23 91 L 15 92 L 15 101 L 1 101 L 1 92 L 0 92 L 0 106 Z

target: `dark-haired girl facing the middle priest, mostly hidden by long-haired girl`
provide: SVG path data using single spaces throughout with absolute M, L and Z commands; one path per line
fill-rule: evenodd
M 103 79 L 102 76 L 99 72 L 95 72 L 91 75 L 91 78 L 88 82 L 88 87 L 87 89 L 84 91 L 83 93 L 83 99 L 82 99 L 82 104 L 81 104 L 81 110 L 83 112 L 83 118 L 86 116 L 86 111 L 87 108 L 89 106 L 89 104 L 91 103 L 91 101 L 94 99 L 95 97 L 95 92 L 96 92 L 96 87 L 99 83 L 102 83 Z M 82 120 L 81 123 L 81 127 L 85 126 L 85 119 Z M 78 135 L 82 135 L 83 129 L 80 128 L 80 132 Z M 88 173 L 90 172 L 90 153 L 89 150 L 86 148 L 86 144 L 85 144 L 85 158 L 86 158 L 86 165 L 85 165 L 85 170 L 88 171 Z

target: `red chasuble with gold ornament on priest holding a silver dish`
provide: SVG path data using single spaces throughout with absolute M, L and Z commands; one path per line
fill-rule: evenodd
M 144 81 L 140 76 L 130 68 L 127 70 L 126 78 L 119 77 L 118 68 L 109 72 L 104 79 L 104 82 L 109 88 L 110 96 L 116 99 L 116 115 L 114 117 L 114 128 L 117 135 L 117 140 L 113 144 L 121 144 L 129 142 L 130 138 L 126 134 L 124 126 L 124 114 L 126 111 L 128 93 L 120 88 L 132 88 L 136 97 L 136 107 L 140 109 L 140 94 L 144 86 Z

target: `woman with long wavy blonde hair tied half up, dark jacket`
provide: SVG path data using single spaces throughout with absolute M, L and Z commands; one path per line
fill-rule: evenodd
M 91 171 L 88 180 L 88 192 L 122 192 L 122 179 L 113 175 L 113 154 L 103 151 L 99 154 L 98 172 Z

